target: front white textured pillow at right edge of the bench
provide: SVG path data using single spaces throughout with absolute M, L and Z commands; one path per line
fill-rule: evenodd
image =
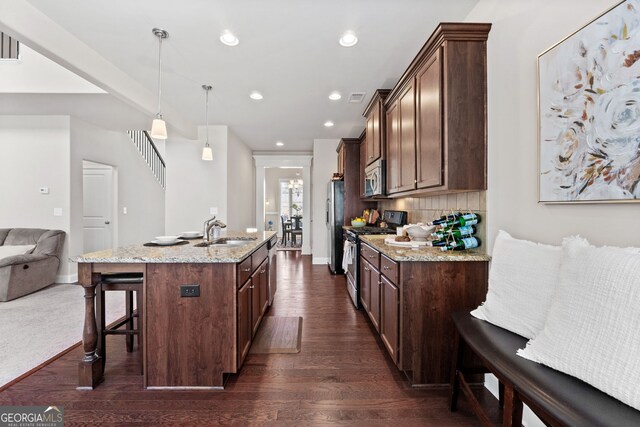
M 640 254 L 565 241 L 544 329 L 518 354 L 640 410 Z

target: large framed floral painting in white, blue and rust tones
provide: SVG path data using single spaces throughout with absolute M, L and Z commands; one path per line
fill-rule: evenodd
M 640 0 L 538 57 L 540 201 L 640 200 Z

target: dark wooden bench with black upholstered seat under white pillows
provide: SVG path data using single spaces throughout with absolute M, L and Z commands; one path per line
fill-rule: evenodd
M 522 404 L 548 425 L 640 426 L 640 412 L 579 379 L 516 355 L 527 339 L 476 319 L 455 313 L 456 354 L 451 381 L 451 410 L 462 388 L 476 415 L 493 425 L 476 400 L 467 378 L 491 372 L 500 381 L 503 425 L 522 425 Z M 469 362 L 470 354 L 481 366 Z M 471 366 L 475 365 L 475 366 Z

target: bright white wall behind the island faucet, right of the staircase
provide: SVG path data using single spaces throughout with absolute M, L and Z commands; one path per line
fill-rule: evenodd
M 209 208 L 218 208 L 217 217 L 227 215 L 227 127 L 209 126 L 209 145 L 213 160 L 202 160 L 205 127 L 198 128 L 199 140 L 167 139 L 167 234 L 202 230 L 212 217 Z

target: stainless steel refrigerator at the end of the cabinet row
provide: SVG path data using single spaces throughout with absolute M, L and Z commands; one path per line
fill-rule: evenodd
M 344 225 L 344 181 L 330 181 L 327 187 L 327 235 L 329 270 L 342 274 L 342 226 Z

